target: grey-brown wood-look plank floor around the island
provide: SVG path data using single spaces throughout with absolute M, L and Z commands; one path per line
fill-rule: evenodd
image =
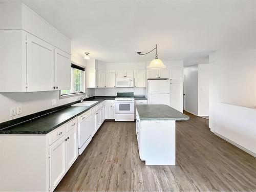
M 105 121 L 55 190 L 256 191 L 256 158 L 189 116 L 176 123 L 176 166 L 146 166 L 135 122 Z

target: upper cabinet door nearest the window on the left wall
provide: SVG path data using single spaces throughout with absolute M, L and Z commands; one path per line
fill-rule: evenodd
M 71 89 L 70 55 L 55 48 L 55 83 L 57 90 Z

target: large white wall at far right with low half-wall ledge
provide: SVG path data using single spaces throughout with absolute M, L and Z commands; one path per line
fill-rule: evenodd
M 209 60 L 209 127 L 256 155 L 256 50 L 220 50 Z

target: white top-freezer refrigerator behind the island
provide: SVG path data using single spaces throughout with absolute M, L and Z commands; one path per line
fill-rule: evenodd
M 147 100 L 148 104 L 166 104 L 170 106 L 170 80 L 148 79 Z

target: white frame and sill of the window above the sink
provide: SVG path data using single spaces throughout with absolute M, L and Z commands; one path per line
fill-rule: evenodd
M 82 71 L 82 91 L 81 92 L 73 92 L 74 90 L 74 76 L 73 76 L 73 70 L 75 68 L 71 67 L 70 70 L 70 78 L 71 78 L 71 91 L 72 93 L 67 93 L 67 94 L 61 94 L 61 90 L 59 90 L 59 99 L 63 99 L 63 98 L 67 98 L 67 97 L 74 97 L 74 96 L 78 96 L 78 95 L 85 95 L 86 94 L 86 67 L 84 66 L 80 66 L 75 62 L 72 62 L 74 65 L 77 65 L 79 67 L 84 68 L 84 71 Z

